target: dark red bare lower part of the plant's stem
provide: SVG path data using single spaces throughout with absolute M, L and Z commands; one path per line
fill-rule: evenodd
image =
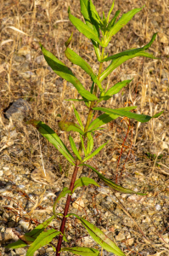
M 78 162 L 76 162 L 76 166 L 75 166 L 75 169 L 74 169 L 74 172 L 73 172 L 73 175 L 71 177 L 71 182 L 70 182 L 70 191 L 73 190 L 74 188 L 74 183 L 76 181 L 76 175 L 77 175 L 77 171 L 78 171 Z M 60 226 L 60 232 L 62 234 L 64 234 L 64 230 L 65 230 L 65 221 L 66 221 L 66 218 L 65 216 L 67 215 L 68 213 L 68 210 L 69 210 L 69 207 L 70 207 L 70 200 L 71 200 L 71 195 L 68 195 L 67 196 L 67 201 L 66 201 L 66 204 L 65 204 L 65 211 L 64 211 L 64 217 L 62 218 L 62 224 Z M 56 256 L 59 256 L 60 253 L 60 249 L 61 249 L 61 244 L 62 244 L 62 240 L 63 240 L 63 236 L 62 235 L 59 235 L 59 239 L 58 239 L 58 245 L 57 245 L 57 248 L 56 248 Z

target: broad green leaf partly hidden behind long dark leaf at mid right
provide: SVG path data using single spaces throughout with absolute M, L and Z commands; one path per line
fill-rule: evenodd
M 119 108 L 121 110 L 125 109 L 125 111 L 130 111 L 132 109 L 137 108 L 137 106 L 126 107 L 126 108 Z M 89 125 L 88 131 L 93 131 L 99 128 L 102 125 L 110 123 L 113 119 L 117 119 L 120 115 L 118 114 L 109 114 L 103 113 L 97 119 L 94 119 L 93 122 Z

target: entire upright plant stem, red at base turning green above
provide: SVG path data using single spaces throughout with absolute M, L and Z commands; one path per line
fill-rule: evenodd
M 102 49 L 102 59 L 104 58 L 104 48 Z M 99 74 L 98 74 L 98 79 L 100 78 L 100 75 L 101 75 L 101 72 L 102 72 L 102 67 L 103 67 L 103 63 L 100 63 L 99 65 Z M 94 88 L 94 95 L 97 94 L 97 91 L 98 91 L 98 86 L 97 84 L 95 84 L 95 88 Z M 91 122 L 91 119 L 92 119 L 92 114 L 93 114 L 93 106 L 94 106 L 95 102 L 92 102 L 91 103 L 91 107 L 89 108 L 89 112 L 87 114 L 87 123 L 85 125 L 85 129 L 84 129 L 84 132 L 87 132 L 88 130 L 88 126 L 90 125 L 90 122 Z M 82 154 L 82 143 L 79 144 L 79 154 L 81 155 Z M 80 161 L 79 160 L 76 160 L 76 166 L 75 166 L 75 169 L 74 169 L 74 172 L 73 172 L 73 175 L 71 177 L 71 182 L 70 182 L 70 191 L 72 192 L 73 188 L 74 188 L 74 183 L 76 182 L 76 175 L 77 175 L 77 172 L 78 172 L 78 168 L 79 168 L 79 163 Z M 68 211 L 69 211 L 69 207 L 70 207 L 70 200 L 71 200 L 71 195 L 68 195 L 67 196 L 67 201 L 65 203 L 65 211 L 64 211 L 64 217 L 62 218 L 62 223 L 61 223 L 61 226 L 60 226 L 60 232 L 62 234 L 64 234 L 64 230 L 65 230 L 65 222 L 66 222 L 66 218 L 65 216 L 67 215 Z M 56 248 L 56 256 L 59 256 L 60 255 L 60 249 L 61 249 L 61 244 L 62 244 L 62 240 L 63 240 L 63 236 L 62 235 L 59 235 L 59 239 L 58 239 L 58 245 L 57 245 L 57 248 Z

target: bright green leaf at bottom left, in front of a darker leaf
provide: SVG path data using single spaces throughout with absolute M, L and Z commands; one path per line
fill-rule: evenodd
M 31 246 L 29 247 L 26 256 L 33 256 L 34 253 L 41 247 L 45 246 L 46 244 L 48 244 L 50 241 L 53 240 L 53 238 L 55 236 L 59 236 L 61 232 L 60 231 L 56 231 L 54 229 L 52 230 L 46 230 L 43 231 L 38 237 L 37 239 L 31 244 Z

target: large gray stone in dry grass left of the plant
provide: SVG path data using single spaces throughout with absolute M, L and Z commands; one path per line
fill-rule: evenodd
M 18 99 L 14 102 L 10 108 L 5 112 L 5 116 L 9 119 L 10 117 L 15 121 L 23 121 L 26 112 L 31 110 L 31 106 L 24 99 Z

